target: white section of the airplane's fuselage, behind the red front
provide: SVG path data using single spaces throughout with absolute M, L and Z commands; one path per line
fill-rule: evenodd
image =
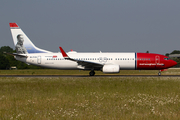
M 136 53 L 76 53 L 68 52 L 70 58 L 88 61 L 102 65 L 119 65 L 121 70 L 134 70 L 136 67 Z M 27 58 L 16 56 L 16 59 L 28 64 L 38 65 L 53 69 L 84 69 L 75 61 L 65 60 L 61 53 L 34 53 L 26 54 Z

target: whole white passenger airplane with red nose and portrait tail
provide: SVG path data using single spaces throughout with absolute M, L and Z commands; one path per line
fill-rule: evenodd
M 61 70 L 88 70 L 90 76 L 95 71 L 119 73 L 120 70 L 159 70 L 158 75 L 177 63 L 167 56 L 154 53 L 111 52 L 79 53 L 71 50 L 54 53 L 36 47 L 16 23 L 9 23 L 17 53 L 16 60 L 27 64 Z

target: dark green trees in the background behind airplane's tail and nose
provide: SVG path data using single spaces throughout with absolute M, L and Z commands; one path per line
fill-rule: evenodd
M 12 66 L 15 66 L 17 69 L 42 69 L 42 67 L 39 66 L 34 66 L 34 65 L 27 65 L 26 63 L 17 61 L 14 56 L 5 54 L 6 53 L 15 53 L 16 51 L 13 50 L 9 46 L 2 46 L 0 48 L 0 69 L 5 70 L 5 69 L 10 69 Z M 147 51 L 146 53 L 149 53 Z M 166 56 L 169 57 L 170 54 L 180 54 L 179 50 L 174 50 L 171 53 L 166 53 Z M 178 64 L 176 67 L 180 67 L 180 58 L 171 58 L 175 60 Z

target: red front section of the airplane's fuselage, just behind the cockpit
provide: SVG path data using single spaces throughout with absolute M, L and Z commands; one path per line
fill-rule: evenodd
M 137 70 L 161 70 L 171 67 L 171 61 L 164 55 L 153 53 L 137 53 Z

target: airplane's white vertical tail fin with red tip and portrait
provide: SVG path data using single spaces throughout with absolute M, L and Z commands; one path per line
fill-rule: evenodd
M 36 47 L 16 23 L 9 23 L 14 46 L 18 54 L 51 53 Z

